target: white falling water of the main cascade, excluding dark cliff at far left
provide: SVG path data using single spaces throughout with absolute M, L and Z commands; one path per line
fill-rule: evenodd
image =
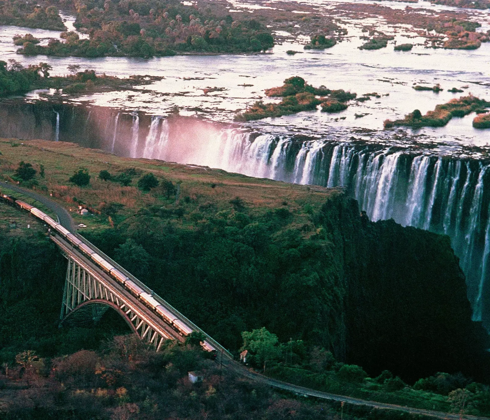
M 131 128 L 131 155 L 138 146 L 137 116 Z M 451 236 L 466 273 L 473 317 L 490 327 L 490 302 L 485 301 L 489 276 L 490 222 L 482 215 L 484 177 L 490 166 L 410 152 L 370 149 L 362 144 L 306 140 L 245 130 L 223 129 L 183 149 L 169 139 L 169 125 L 153 117 L 143 156 L 195 163 L 255 177 L 345 187 L 371 220 L 393 218 L 404 226 Z M 172 146 L 172 147 L 171 147 Z M 490 215 L 489 215 L 490 216 Z M 484 224 L 485 226 L 481 226 Z

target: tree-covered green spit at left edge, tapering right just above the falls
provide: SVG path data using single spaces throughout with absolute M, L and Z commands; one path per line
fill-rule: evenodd
M 145 85 L 161 80 L 158 76 L 129 76 L 121 79 L 106 74 L 97 75 L 94 70 L 79 71 L 80 66 L 68 66 L 71 74 L 50 76 L 52 70 L 48 63 L 30 64 L 23 67 L 19 62 L 10 59 L 9 64 L 0 61 L 0 97 L 19 95 L 33 89 L 53 88 L 71 95 L 108 92 L 120 89 L 132 89 L 135 85 Z

